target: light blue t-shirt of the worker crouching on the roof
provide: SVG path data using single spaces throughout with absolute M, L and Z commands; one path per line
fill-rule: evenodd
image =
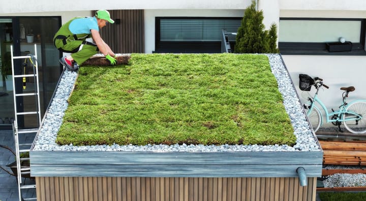
M 99 31 L 98 22 L 96 17 L 83 17 L 83 18 L 76 18 L 71 21 L 69 25 L 69 30 L 73 34 L 80 34 L 80 33 L 88 33 L 90 34 L 90 29 L 95 29 Z

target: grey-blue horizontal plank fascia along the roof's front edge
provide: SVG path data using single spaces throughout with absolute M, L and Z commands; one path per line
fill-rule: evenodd
M 323 152 L 32 151 L 34 177 L 321 177 Z

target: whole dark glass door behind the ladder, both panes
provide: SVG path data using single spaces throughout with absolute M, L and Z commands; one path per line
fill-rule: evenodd
M 10 46 L 13 45 L 14 56 L 37 53 L 40 111 L 43 117 L 63 70 L 58 61 L 61 53 L 53 46 L 54 33 L 60 26 L 61 18 L 54 16 L 0 18 L 0 129 L 12 128 L 13 91 L 15 90 L 17 94 L 31 93 L 35 88 L 33 77 L 16 78 L 13 86 Z M 14 71 L 16 75 L 33 74 L 33 65 L 29 60 L 15 59 Z M 35 97 L 17 96 L 16 98 L 18 112 L 37 111 Z M 38 126 L 37 115 L 18 115 L 17 119 L 20 129 Z

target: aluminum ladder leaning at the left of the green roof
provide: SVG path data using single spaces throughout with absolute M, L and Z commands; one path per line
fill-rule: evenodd
M 37 133 L 39 130 L 39 127 L 41 125 L 41 111 L 40 111 L 40 90 L 39 90 L 39 79 L 38 79 L 38 63 L 37 63 L 37 45 L 34 45 L 34 52 L 35 55 L 28 54 L 26 56 L 14 56 L 13 55 L 13 46 L 10 46 L 11 48 L 11 61 L 12 61 L 12 73 L 13 73 L 13 93 L 14 93 L 14 124 L 13 124 L 13 133 L 14 133 L 14 143 L 15 143 L 15 152 L 16 152 L 16 161 L 17 161 L 17 182 L 18 182 L 18 194 L 19 194 L 19 201 L 22 200 L 37 200 L 37 197 L 23 197 L 23 194 L 25 190 L 28 189 L 36 189 L 36 184 L 28 184 L 25 185 L 25 182 L 22 182 L 22 175 L 30 174 L 31 168 L 29 166 L 21 166 L 21 162 L 28 160 L 29 157 L 26 158 L 20 158 L 21 153 L 26 153 L 30 151 L 32 143 L 19 143 L 19 136 L 20 135 L 26 135 L 31 133 Z M 14 59 L 29 59 L 31 63 L 33 64 L 33 73 L 32 74 L 26 74 L 25 68 L 23 75 L 15 75 L 14 71 Z M 34 92 L 32 93 L 17 93 L 16 92 L 16 80 L 25 80 L 27 77 L 33 77 L 34 78 Z M 18 112 L 17 111 L 17 97 L 18 96 L 34 96 L 35 97 L 35 111 L 29 111 L 29 112 Z M 18 129 L 18 116 L 20 115 L 37 115 L 37 121 L 38 126 L 37 128 L 33 129 Z

